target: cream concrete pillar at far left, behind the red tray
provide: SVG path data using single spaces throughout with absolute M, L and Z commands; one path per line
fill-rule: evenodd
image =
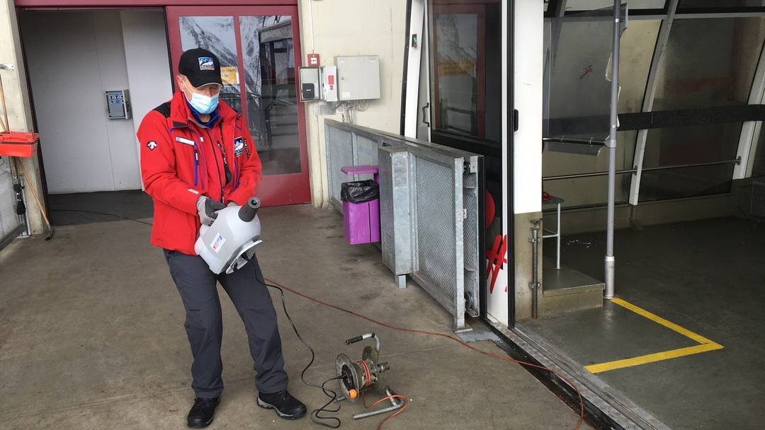
M 8 122 L 12 131 L 33 131 L 32 109 L 29 98 L 24 56 L 21 51 L 16 6 L 13 0 L 0 0 L 0 63 L 13 64 L 14 70 L 0 70 L 3 88 L 5 89 L 5 104 L 8 107 Z M 29 212 L 29 222 L 32 234 L 44 231 L 44 221 L 41 212 L 34 202 L 31 189 L 37 196 L 43 198 L 42 180 L 40 178 L 39 157 L 21 159 L 24 170 L 29 177 L 26 179 L 25 197 Z M 41 202 L 44 204 L 44 202 Z

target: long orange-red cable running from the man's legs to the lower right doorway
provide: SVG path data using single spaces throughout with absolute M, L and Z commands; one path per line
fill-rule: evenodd
M 374 318 L 369 318 L 368 316 L 362 315 L 362 314 L 360 314 L 358 312 L 353 312 L 351 310 L 341 308 L 340 306 L 335 306 L 335 305 L 333 305 L 331 303 L 327 303 L 327 302 L 321 301 L 319 299 L 314 299 L 311 296 L 308 296 L 308 295 L 306 295 L 304 293 L 301 293 L 301 292 L 299 292 L 299 291 L 297 291 L 295 289 L 291 289 L 288 286 L 284 286 L 284 285 L 282 285 L 282 284 L 280 284 L 278 282 L 270 280 L 269 278 L 265 278 L 265 280 L 267 282 L 269 282 L 269 283 L 275 284 L 275 286 L 278 286 L 280 289 L 286 289 L 287 291 L 289 291 L 290 293 L 295 294 L 296 296 L 301 296 L 304 299 L 311 300 L 311 302 L 315 302 L 315 303 L 318 303 L 320 305 L 324 305 L 324 306 L 330 307 L 332 309 L 336 309 L 336 310 L 338 310 L 340 312 L 345 312 L 347 314 L 356 316 L 358 318 L 362 318 L 362 319 L 364 319 L 364 320 L 366 320 L 368 322 L 372 322 L 373 324 L 380 325 L 380 326 L 385 327 L 385 328 L 390 328 L 392 330 L 397 330 L 397 331 L 404 331 L 404 332 L 407 332 L 407 333 L 414 333 L 414 334 L 417 334 L 417 335 L 428 335 L 428 336 L 435 336 L 435 337 L 438 337 L 438 338 L 451 339 L 452 341 L 455 341 L 458 344 L 461 344 L 465 348 L 470 349 L 471 351 L 477 352 L 478 354 L 483 354 L 483 355 L 485 355 L 487 357 L 492 357 L 492 358 L 496 358 L 497 360 L 507 361 L 508 363 L 520 364 L 520 365 L 526 366 L 526 367 L 533 367 L 535 369 L 546 370 L 546 371 L 554 374 L 556 377 L 560 378 L 560 380 L 565 382 L 568 386 L 571 386 L 571 389 L 573 389 L 575 391 L 575 393 L 577 393 L 577 396 L 579 398 L 579 420 L 576 423 L 576 425 L 574 426 L 574 430 L 578 430 L 581 427 L 582 423 L 584 423 L 584 398 L 581 396 L 581 393 L 579 392 L 578 388 L 574 385 L 574 383 L 571 382 L 571 380 L 568 379 L 568 377 L 565 377 L 561 373 L 559 373 L 559 372 L 557 372 L 555 370 L 552 370 L 549 367 L 545 367 L 545 366 L 542 366 L 542 365 L 539 365 L 539 364 L 528 363 L 526 361 L 515 360 L 513 358 L 507 357 L 506 355 L 500 355 L 500 354 L 494 354 L 494 353 L 491 353 L 491 352 L 481 351 L 480 349 L 474 347 L 473 345 L 468 344 L 467 342 L 463 341 L 460 338 L 457 338 L 457 336 L 454 336 L 454 335 L 447 335 L 446 333 L 439 333 L 438 331 L 417 330 L 415 328 L 399 327 L 397 325 L 392 325 L 392 324 L 389 324 L 387 322 L 378 321 L 378 320 L 376 320 Z M 266 284 L 266 285 L 268 285 L 268 284 Z M 388 417 L 388 418 L 392 418 L 392 416 Z M 381 425 L 382 425 L 382 423 L 381 423 Z M 379 429 L 379 427 L 378 427 L 378 429 Z

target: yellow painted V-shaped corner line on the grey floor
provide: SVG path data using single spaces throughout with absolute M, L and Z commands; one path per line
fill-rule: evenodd
M 645 318 L 648 318 L 649 320 L 656 322 L 657 324 L 663 325 L 664 327 L 669 328 L 672 331 L 676 331 L 677 333 L 685 336 L 686 338 L 690 338 L 693 341 L 698 342 L 698 345 L 687 347 L 687 348 L 677 348 L 677 349 L 672 349 L 669 351 L 657 352 L 654 354 L 641 355 L 639 357 L 625 358 L 623 360 L 608 361 L 607 363 L 591 364 L 589 366 L 585 366 L 584 368 L 589 370 L 591 373 L 601 373 L 601 372 L 606 372 L 608 370 L 622 369 L 623 367 L 640 366 L 640 364 L 653 363 L 653 362 L 661 361 L 661 360 L 669 360 L 669 359 L 677 358 L 677 357 L 685 357 L 686 355 L 700 354 L 702 352 L 715 351 L 715 350 L 723 348 L 721 344 L 710 341 L 708 338 L 705 338 L 702 335 L 697 335 L 696 333 L 688 330 L 687 328 L 682 328 L 679 325 L 676 325 L 674 322 L 667 321 L 666 319 L 660 317 L 659 315 L 648 312 L 646 311 L 646 309 L 635 306 L 632 303 L 627 302 L 626 300 L 612 299 L 611 302 L 614 302 L 617 305 L 622 306 L 623 308 L 630 309 L 630 311 L 635 312 L 636 314 L 641 315 Z

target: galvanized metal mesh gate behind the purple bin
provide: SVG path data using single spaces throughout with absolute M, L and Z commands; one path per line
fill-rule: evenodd
M 473 299 L 472 311 L 478 312 L 480 306 L 480 156 L 354 124 L 327 120 L 325 126 L 330 169 L 339 171 L 350 165 L 349 141 L 353 165 L 379 166 L 382 254 L 386 265 L 396 275 L 411 273 L 413 280 L 454 315 L 454 328 L 463 328 L 465 293 Z M 383 144 L 399 149 L 379 149 Z M 330 178 L 330 201 L 335 199 L 337 189 L 337 202 L 333 203 L 339 209 L 339 183 L 348 179 L 334 172 Z M 399 195 L 394 196 L 394 192 Z M 407 237 L 411 247 L 404 240 Z M 409 258 L 402 258 L 407 249 Z

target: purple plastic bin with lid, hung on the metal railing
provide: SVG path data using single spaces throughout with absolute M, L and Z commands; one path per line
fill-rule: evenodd
M 345 166 L 340 169 L 347 175 L 374 175 L 377 177 L 377 166 Z M 349 244 L 371 244 L 380 241 L 380 201 L 351 203 L 343 202 L 343 231 Z

